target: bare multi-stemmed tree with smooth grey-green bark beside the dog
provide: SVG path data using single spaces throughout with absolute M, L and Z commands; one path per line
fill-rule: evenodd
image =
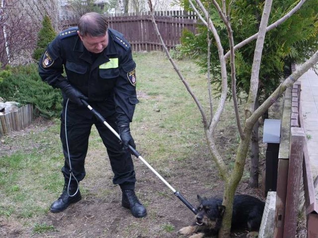
M 219 5 L 218 2 L 221 2 L 221 5 Z M 271 10 L 271 4 L 272 0 L 265 0 L 264 3 L 264 9 L 263 14 L 261 17 L 261 22 L 259 26 L 259 31 L 257 34 L 249 37 L 248 39 L 242 41 L 238 45 L 234 45 L 233 40 L 233 31 L 231 28 L 231 22 L 230 22 L 230 9 L 231 9 L 231 3 L 228 3 L 229 1 L 216 1 L 211 0 L 211 3 L 213 6 L 217 9 L 219 16 L 221 17 L 222 21 L 225 23 L 228 31 L 229 36 L 229 42 L 230 42 L 230 51 L 227 53 L 224 53 L 224 48 L 221 44 L 220 37 L 218 35 L 218 32 L 216 28 L 214 27 L 214 23 L 212 19 L 209 16 L 209 13 L 207 9 L 205 8 L 205 5 L 200 0 L 189 0 L 190 5 L 192 8 L 196 11 L 202 22 L 205 24 L 205 26 L 212 32 L 214 39 L 217 44 L 218 48 L 218 54 L 219 54 L 219 60 L 221 65 L 221 78 L 222 78 L 222 91 L 221 91 L 221 97 L 218 104 L 218 107 L 216 109 L 216 112 L 213 114 L 212 111 L 212 97 L 211 97 L 211 87 L 210 87 L 210 78 L 208 77 L 208 91 L 209 91 L 209 101 L 210 101 L 210 116 L 206 115 L 204 112 L 204 109 L 196 97 L 196 95 L 191 90 L 190 86 L 188 85 L 187 81 L 184 79 L 183 75 L 179 71 L 176 63 L 171 58 L 167 48 L 164 45 L 164 42 L 160 36 L 159 29 L 157 27 L 155 17 L 154 17 L 154 6 L 152 4 L 151 0 L 148 0 L 150 9 L 151 9 L 151 17 L 153 21 L 153 25 L 156 29 L 157 35 L 159 37 L 160 43 L 172 63 L 176 73 L 180 77 L 181 81 L 185 85 L 187 91 L 192 96 L 193 100 L 195 101 L 202 117 L 203 121 L 203 128 L 205 132 L 205 137 L 207 140 L 207 145 L 210 150 L 211 158 L 213 162 L 216 164 L 219 173 L 221 175 L 221 178 L 225 182 L 225 189 L 224 189 L 224 196 L 223 196 L 223 205 L 226 206 L 226 213 L 223 219 L 222 228 L 219 233 L 220 238 L 228 238 L 230 237 L 230 229 L 231 229 L 231 220 L 232 220 L 232 211 L 233 211 L 233 200 L 234 200 L 234 194 L 237 189 L 237 186 L 239 184 L 240 179 L 242 178 L 243 171 L 244 171 L 244 165 L 246 162 L 246 156 L 250 144 L 250 138 L 252 135 L 252 130 L 254 124 L 257 122 L 257 120 L 270 108 L 270 106 L 276 101 L 277 98 L 279 98 L 285 90 L 292 86 L 297 79 L 303 75 L 308 69 L 313 67 L 318 62 L 318 51 L 309 59 L 307 60 L 303 65 L 299 67 L 297 71 L 295 71 L 293 74 L 291 74 L 288 78 L 286 78 L 279 87 L 264 101 L 262 105 L 260 105 L 255 110 L 255 102 L 256 102 L 256 96 L 257 96 L 257 89 L 259 84 L 259 78 L 258 73 L 260 69 L 260 60 L 262 57 L 262 49 L 263 49 L 263 43 L 264 43 L 264 37 L 268 30 L 271 30 L 275 27 L 277 27 L 279 24 L 281 24 L 283 21 L 285 21 L 287 18 L 289 18 L 294 12 L 296 12 L 302 4 L 305 2 L 305 0 L 300 0 L 300 2 L 290 11 L 288 12 L 284 17 L 276 21 L 275 23 L 271 24 L 267 27 L 268 24 L 268 17 Z M 247 103 L 245 105 L 245 114 L 243 117 L 243 123 L 241 122 L 241 118 L 239 115 L 238 110 L 238 102 L 235 96 L 233 96 L 233 105 L 234 105 L 234 113 L 236 115 L 237 119 L 237 126 L 238 131 L 240 135 L 240 141 L 239 146 L 236 153 L 236 159 L 235 159 L 235 165 L 232 171 L 226 166 L 225 161 L 223 160 L 223 156 L 218 150 L 216 146 L 216 141 L 213 138 L 213 134 L 215 132 L 215 128 L 220 120 L 221 114 L 223 113 L 225 102 L 227 99 L 227 92 L 228 92 L 228 75 L 231 75 L 232 79 L 232 95 L 236 95 L 236 72 L 235 72 L 235 50 L 239 49 L 240 47 L 250 43 L 251 41 L 256 39 L 256 46 L 254 51 L 254 59 L 253 59 L 253 65 L 252 65 L 252 73 L 250 77 L 250 91 L 248 94 Z M 208 51 L 209 52 L 209 51 Z M 231 72 L 227 71 L 226 68 L 226 61 L 230 58 L 231 62 Z M 208 73 L 209 75 L 209 73 Z

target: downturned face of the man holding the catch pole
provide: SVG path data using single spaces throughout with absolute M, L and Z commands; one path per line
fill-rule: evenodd
M 79 34 L 79 31 L 78 31 Z M 87 51 L 98 54 L 101 53 L 108 46 L 108 33 L 104 36 L 92 37 L 89 35 L 81 36 L 80 40 L 83 42 L 84 47 Z

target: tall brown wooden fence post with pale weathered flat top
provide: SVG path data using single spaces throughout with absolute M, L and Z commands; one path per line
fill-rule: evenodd
M 304 129 L 301 127 L 291 127 L 284 238 L 292 238 L 296 236 L 299 190 L 304 156 L 304 141 Z

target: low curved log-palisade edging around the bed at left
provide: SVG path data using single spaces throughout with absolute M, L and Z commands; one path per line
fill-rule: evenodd
M 11 131 L 20 131 L 30 125 L 33 119 L 33 105 L 27 104 L 17 111 L 0 115 L 0 136 Z

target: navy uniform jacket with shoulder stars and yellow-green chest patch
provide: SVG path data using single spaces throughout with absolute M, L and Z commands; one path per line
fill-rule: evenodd
M 121 33 L 108 29 L 108 46 L 93 59 L 77 31 L 77 27 L 69 28 L 48 45 L 39 62 L 42 80 L 61 89 L 71 84 L 88 97 L 89 103 L 98 105 L 103 116 L 116 112 L 119 123 L 132 121 L 138 99 L 136 63 L 129 43 Z

